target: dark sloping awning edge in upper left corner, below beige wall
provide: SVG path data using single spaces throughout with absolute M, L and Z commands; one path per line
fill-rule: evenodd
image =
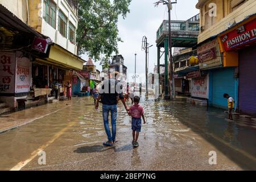
M 22 31 L 35 36 L 43 37 L 42 34 L 35 31 L 34 28 L 27 26 L 11 11 L 7 10 L 5 6 L 0 4 L 0 25 L 12 31 Z

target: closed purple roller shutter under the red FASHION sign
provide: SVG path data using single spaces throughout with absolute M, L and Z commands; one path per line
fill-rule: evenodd
M 239 69 L 239 110 L 256 114 L 256 46 L 240 52 Z

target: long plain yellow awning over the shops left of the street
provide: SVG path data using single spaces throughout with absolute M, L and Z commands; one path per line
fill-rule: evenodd
M 86 62 L 79 56 L 74 55 L 57 44 L 53 44 L 50 47 L 47 60 L 52 64 L 59 64 L 65 68 L 74 69 L 76 71 L 82 70 L 84 63 Z

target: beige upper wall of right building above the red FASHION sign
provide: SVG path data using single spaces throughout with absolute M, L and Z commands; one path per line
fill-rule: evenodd
M 199 0 L 200 35 L 198 43 L 218 35 L 246 16 L 256 13 L 255 0 Z

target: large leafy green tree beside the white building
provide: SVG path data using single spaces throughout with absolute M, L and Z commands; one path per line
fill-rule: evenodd
M 101 64 L 107 64 L 112 53 L 118 53 L 118 16 L 126 18 L 131 0 L 79 0 L 77 53 L 87 53 Z M 104 57 L 103 59 L 101 58 Z

